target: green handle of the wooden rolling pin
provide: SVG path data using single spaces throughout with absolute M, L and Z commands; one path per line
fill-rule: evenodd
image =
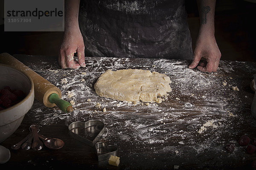
M 67 102 L 63 99 L 60 99 L 58 94 L 55 94 L 55 93 L 50 94 L 48 99 L 49 99 L 49 102 L 54 103 L 55 105 L 57 105 L 58 108 L 60 108 L 61 111 L 64 111 L 65 113 L 73 112 L 72 105 L 69 102 Z

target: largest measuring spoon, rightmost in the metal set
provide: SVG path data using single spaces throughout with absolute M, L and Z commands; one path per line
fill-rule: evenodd
M 43 140 L 44 145 L 50 149 L 60 149 L 64 146 L 64 142 L 61 139 L 57 138 L 48 138 L 40 133 L 38 133 L 38 137 Z

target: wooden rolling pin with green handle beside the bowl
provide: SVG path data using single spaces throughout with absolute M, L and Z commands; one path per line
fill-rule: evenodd
M 72 105 L 61 99 L 61 91 L 55 85 L 41 77 L 35 71 L 32 71 L 19 60 L 15 59 L 8 53 L 0 54 L 0 63 L 10 65 L 19 71 L 26 73 L 34 82 L 35 99 L 43 103 L 47 108 L 52 108 L 55 105 L 66 113 L 72 112 Z

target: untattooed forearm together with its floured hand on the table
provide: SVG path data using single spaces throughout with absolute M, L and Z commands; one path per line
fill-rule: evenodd
M 65 0 L 65 31 L 58 56 L 61 68 L 85 67 L 84 40 L 78 24 L 79 3 L 80 0 Z M 78 61 L 74 60 L 76 52 Z

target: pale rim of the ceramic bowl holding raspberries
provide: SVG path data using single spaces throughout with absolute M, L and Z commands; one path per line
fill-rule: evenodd
M 15 105 L 12 105 L 12 106 L 9 107 L 9 108 L 3 109 L 2 111 L 0 111 L 0 114 L 1 114 L 1 113 L 6 112 L 6 111 L 12 110 L 13 108 L 15 108 L 15 107 L 17 107 L 18 105 L 21 105 L 23 102 L 25 102 L 26 99 L 28 99 L 28 98 L 31 96 L 31 94 L 34 93 L 34 82 L 33 82 L 32 78 L 29 77 L 29 75 L 26 74 L 24 71 L 20 71 L 20 70 L 18 70 L 17 68 L 11 66 L 11 65 L 0 64 L 0 66 L 9 67 L 9 68 L 15 69 L 16 71 L 20 72 L 21 74 L 23 74 L 24 76 L 26 76 L 26 77 L 29 79 L 30 85 L 31 85 L 31 88 L 30 88 L 30 90 L 29 90 L 29 94 L 27 94 L 24 99 L 22 99 L 20 102 L 16 103 Z

